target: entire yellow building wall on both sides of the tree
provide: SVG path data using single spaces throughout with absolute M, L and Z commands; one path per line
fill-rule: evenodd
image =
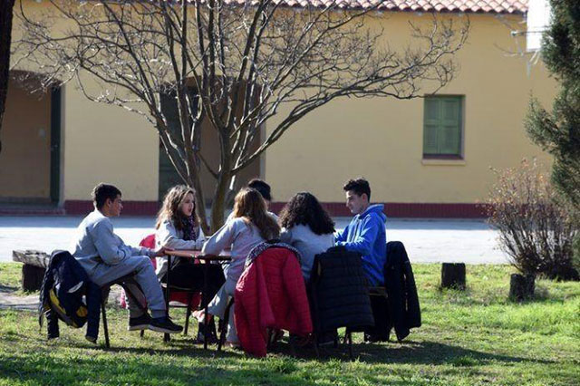
M 466 16 L 443 17 L 460 23 Z M 513 24 L 523 19 L 503 17 Z M 385 28 L 385 43 L 396 48 L 409 40 L 408 22 L 430 24 L 430 14 L 383 13 L 373 20 Z M 465 96 L 463 160 L 422 159 L 421 99 L 333 101 L 297 122 L 266 151 L 262 177 L 272 185 L 275 201 L 309 190 L 321 201 L 342 202 L 343 182 L 363 176 L 371 182 L 373 201 L 473 203 L 485 198 L 495 181 L 490 168 L 513 167 L 524 157 L 549 162 L 527 139 L 523 120 L 530 94 L 549 107 L 556 82 L 541 61 L 528 74 L 529 55 L 502 51 L 515 49 L 516 41 L 498 16 L 471 14 L 469 20 L 468 42 L 457 55 L 459 73 L 439 92 Z M 284 112 L 266 123 L 266 134 Z M 69 82 L 62 134 L 64 201 L 90 199 L 100 181 L 118 185 L 125 200 L 158 199 L 159 140 L 149 122 L 88 101 Z

